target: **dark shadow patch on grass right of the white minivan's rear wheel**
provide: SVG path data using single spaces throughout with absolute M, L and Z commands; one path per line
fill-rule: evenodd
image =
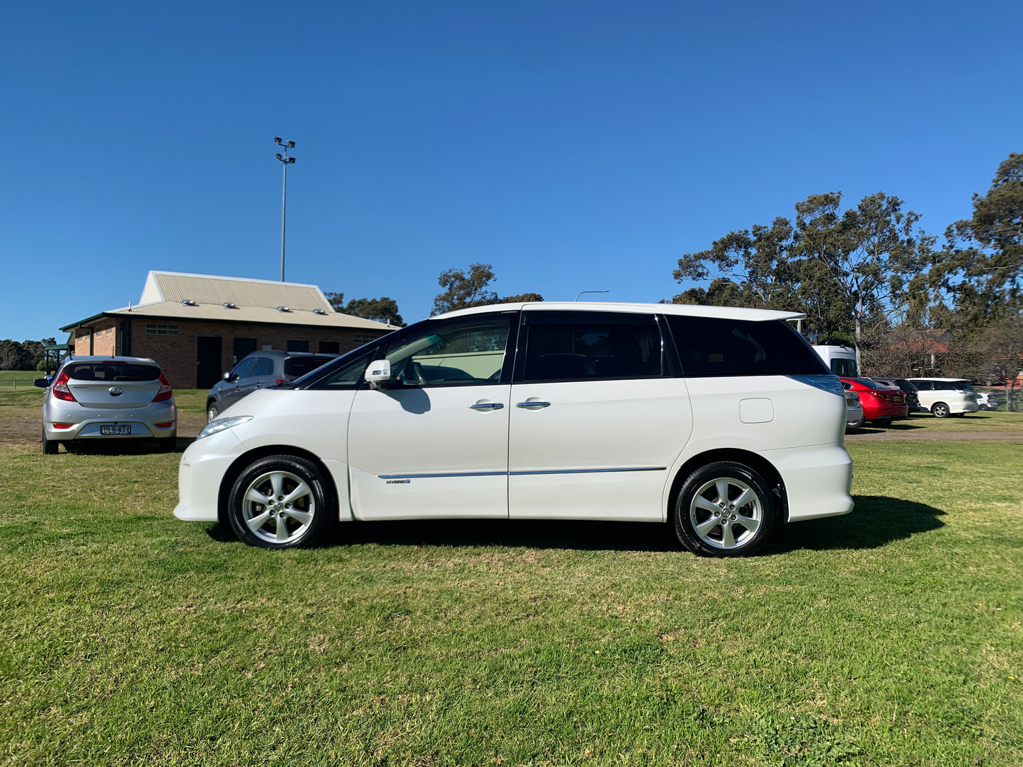
M 850 514 L 786 525 L 764 553 L 880 548 L 944 527 L 938 517 L 945 512 L 926 503 L 883 495 L 856 495 L 853 500 L 856 507 Z

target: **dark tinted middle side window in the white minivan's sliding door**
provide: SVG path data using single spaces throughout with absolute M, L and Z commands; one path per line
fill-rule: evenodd
M 527 330 L 527 381 L 661 375 L 661 333 L 654 324 L 530 324 Z

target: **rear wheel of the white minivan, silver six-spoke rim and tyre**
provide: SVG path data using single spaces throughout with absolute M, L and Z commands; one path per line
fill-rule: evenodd
M 744 499 L 741 505 L 729 502 L 740 499 Z M 674 523 L 678 540 L 695 554 L 749 556 L 773 535 L 777 499 L 754 469 L 717 461 L 685 478 L 675 499 Z M 741 531 L 739 537 L 733 530 Z

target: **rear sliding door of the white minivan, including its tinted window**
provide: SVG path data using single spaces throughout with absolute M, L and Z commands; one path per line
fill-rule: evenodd
M 693 430 L 653 314 L 524 311 L 511 386 L 513 518 L 657 522 Z M 525 354 L 523 354 L 525 350 Z

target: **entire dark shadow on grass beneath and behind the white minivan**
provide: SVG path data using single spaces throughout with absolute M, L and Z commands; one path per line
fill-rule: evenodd
M 943 526 L 941 509 L 885 496 L 856 496 L 851 514 L 786 525 L 762 556 L 800 549 L 879 548 Z M 210 525 L 207 535 L 237 541 L 228 525 Z M 336 526 L 317 548 L 379 546 L 506 546 L 580 551 L 677 551 L 669 525 L 564 520 L 415 520 L 356 522 Z

